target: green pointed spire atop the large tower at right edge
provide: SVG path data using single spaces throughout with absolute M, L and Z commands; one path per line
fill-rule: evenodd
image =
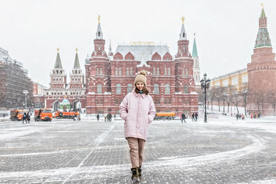
M 267 18 L 264 13 L 264 5 L 262 5 L 261 16 L 259 17 L 259 32 L 255 41 L 254 48 L 271 47 L 269 33 L 267 29 Z

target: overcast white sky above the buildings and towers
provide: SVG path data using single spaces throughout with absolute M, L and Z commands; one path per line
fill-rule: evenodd
M 69 74 L 74 65 L 75 48 L 84 70 L 91 53 L 101 15 L 103 39 L 108 51 L 118 43 L 155 41 L 167 43 L 177 52 L 180 17 L 193 52 L 196 33 L 201 75 L 210 78 L 246 68 L 253 54 L 259 15 L 264 3 L 271 44 L 276 45 L 276 1 L 274 0 L 0 0 L 0 47 L 13 59 L 23 62 L 34 82 L 48 87 L 57 47 L 61 63 Z M 273 50 L 275 52 L 275 50 Z M 84 71 L 83 71 L 84 72 Z

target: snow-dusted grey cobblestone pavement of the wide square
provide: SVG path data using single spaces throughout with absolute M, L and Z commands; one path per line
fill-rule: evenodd
M 0 183 L 132 183 L 123 121 L 0 125 Z M 276 183 L 276 132 L 253 125 L 154 121 L 140 183 Z

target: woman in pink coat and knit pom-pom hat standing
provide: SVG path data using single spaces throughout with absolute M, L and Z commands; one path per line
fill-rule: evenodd
M 130 147 L 132 179 L 141 176 L 143 151 L 148 137 L 148 124 L 155 117 L 155 104 L 146 88 L 146 72 L 141 71 L 134 82 L 135 88 L 128 93 L 120 105 L 120 116 L 124 119 L 124 132 Z

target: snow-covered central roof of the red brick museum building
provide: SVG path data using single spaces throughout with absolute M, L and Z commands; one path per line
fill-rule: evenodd
M 135 57 L 135 61 L 141 61 L 140 65 L 147 65 L 146 61 L 150 61 L 155 52 L 157 52 L 161 58 L 164 57 L 167 52 L 170 53 L 167 45 L 118 45 L 115 54 L 117 54 L 117 52 L 120 52 L 123 57 L 125 57 L 128 52 L 131 52 Z

